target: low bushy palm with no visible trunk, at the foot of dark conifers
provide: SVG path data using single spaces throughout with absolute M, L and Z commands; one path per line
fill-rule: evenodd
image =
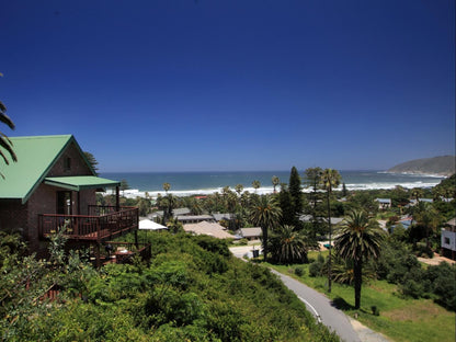
M 269 243 L 273 259 L 280 263 L 304 262 L 307 259 L 306 238 L 294 226 L 278 226 L 271 232 Z

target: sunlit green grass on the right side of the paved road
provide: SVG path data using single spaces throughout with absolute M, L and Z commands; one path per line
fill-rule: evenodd
M 323 256 L 328 252 L 321 252 Z M 309 252 L 309 259 L 317 259 L 319 252 Z M 326 294 L 334 300 L 346 315 L 357 316 L 357 320 L 366 327 L 383 333 L 392 341 L 455 341 L 455 312 L 448 311 L 431 299 L 403 298 L 398 288 L 386 281 L 372 281 L 363 284 L 361 309 L 354 309 L 353 286 L 332 283 L 331 294 L 328 294 L 328 280 L 324 276 L 310 277 L 309 265 L 272 265 L 271 267 L 287 274 L 299 282 Z M 300 266 L 304 276 L 294 274 Z M 372 307 L 379 310 L 379 316 L 373 315 Z

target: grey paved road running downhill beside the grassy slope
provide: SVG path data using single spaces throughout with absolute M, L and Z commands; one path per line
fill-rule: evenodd
M 248 254 L 251 258 L 251 246 L 232 247 L 231 253 L 241 258 Z M 381 334 L 368 329 L 357 320 L 350 318 L 343 311 L 331 305 L 331 300 L 319 292 L 306 286 L 305 284 L 284 275 L 275 270 L 271 270 L 278 275 L 282 282 L 293 290 L 300 300 L 306 304 L 308 310 L 324 326 L 335 331 L 345 342 L 388 342 Z

